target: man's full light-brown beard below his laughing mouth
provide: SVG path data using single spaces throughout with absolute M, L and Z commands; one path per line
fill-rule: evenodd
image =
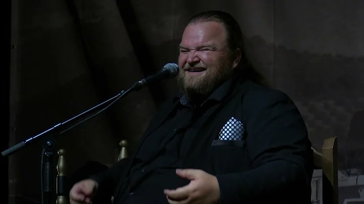
M 203 76 L 187 76 L 185 72 L 180 72 L 177 76 L 179 88 L 197 106 L 200 106 L 218 86 L 235 73 L 231 63 L 226 62 L 220 66 L 207 68 L 205 72 Z

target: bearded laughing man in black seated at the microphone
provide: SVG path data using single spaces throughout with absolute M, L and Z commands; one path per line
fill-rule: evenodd
M 236 20 L 203 12 L 179 46 L 182 94 L 167 100 L 135 155 L 76 183 L 71 203 L 310 203 L 312 152 L 292 100 L 264 85 Z

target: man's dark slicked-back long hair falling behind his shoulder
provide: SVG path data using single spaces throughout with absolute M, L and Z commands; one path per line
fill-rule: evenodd
M 205 11 L 193 16 L 189 20 L 188 24 L 208 21 L 215 21 L 223 25 L 226 31 L 226 40 L 228 42 L 229 49 L 232 52 L 238 48 L 241 50 L 242 56 L 240 65 L 242 66 L 240 67 L 244 77 L 262 86 L 268 86 L 264 76 L 256 70 L 247 59 L 244 47 L 245 36 L 235 18 L 231 14 L 223 11 Z

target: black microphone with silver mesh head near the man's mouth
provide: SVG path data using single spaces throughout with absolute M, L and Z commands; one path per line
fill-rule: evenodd
M 138 91 L 141 88 L 143 88 L 144 86 L 147 86 L 156 81 L 159 81 L 162 79 L 174 78 L 178 75 L 178 73 L 179 73 L 178 65 L 176 65 L 174 63 L 168 63 L 168 64 L 164 65 L 164 67 L 156 74 L 134 83 L 134 85 L 132 85 L 131 89 Z

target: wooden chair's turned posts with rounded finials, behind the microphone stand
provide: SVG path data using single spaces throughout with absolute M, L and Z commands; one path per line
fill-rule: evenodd
M 120 143 L 120 152 L 117 158 L 118 162 L 122 159 L 128 157 L 127 153 L 127 141 L 125 139 L 121 140 Z M 66 161 L 65 161 L 65 150 L 59 149 L 58 150 L 58 163 L 57 163 L 57 200 L 56 204 L 68 204 L 68 192 L 66 192 Z

